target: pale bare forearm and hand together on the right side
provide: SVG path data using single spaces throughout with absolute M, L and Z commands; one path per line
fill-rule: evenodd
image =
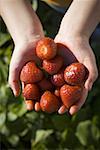
M 59 32 L 55 38 L 57 43 L 62 43 L 68 47 L 77 60 L 83 63 L 89 70 L 89 76 L 85 82 L 82 98 L 69 110 L 72 115 L 82 107 L 88 95 L 88 91 L 91 90 L 98 76 L 96 60 L 89 45 L 89 38 L 99 21 L 100 1 L 74 0 L 62 19 Z

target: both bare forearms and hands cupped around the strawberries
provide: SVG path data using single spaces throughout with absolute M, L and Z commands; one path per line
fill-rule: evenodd
M 19 75 L 24 64 L 37 58 L 34 49 L 38 40 L 44 37 L 42 25 L 28 0 L 0 0 L 0 14 L 14 40 L 15 49 L 9 68 L 9 85 L 14 95 L 20 91 Z M 84 104 L 98 76 L 96 60 L 89 45 L 89 38 L 100 20 L 100 1 L 74 0 L 62 19 L 56 43 L 70 49 L 80 63 L 89 70 L 81 100 L 69 112 L 76 113 Z M 67 57 L 67 55 L 66 55 Z

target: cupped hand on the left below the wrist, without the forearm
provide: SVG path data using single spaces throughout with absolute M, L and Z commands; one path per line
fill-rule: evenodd
M 41 38 L 42 36 L 34 36 L 29 42 L 23 42 L 23 44 L 15 46 L 10 62 L 8 81 L 15 96 L 20 93 L 20 72 L 22 67 L 31 60 L 40 62 L 36 57 L 35 47 Z

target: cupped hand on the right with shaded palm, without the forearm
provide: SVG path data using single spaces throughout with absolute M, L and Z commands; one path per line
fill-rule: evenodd
M 88 95 L 88 91 L 91 90 L 92 85 L 98 76 L 98 71 L 96 67 L 95 56 L 89 45 L 88 39 L 74 36 L 67 38 L 67 36 L 63 36 L 58 34 L 55 38 L 55 42 L 66 46 L 66 48 L 64 46 L 61 47 L 61 44 L 59 44 L 58 50 L 61 49 L 61 53 L 65 57 L 67 63 L 70 64 L 78 60 L 80 63 L 84 64 L 89 71 L 89 76 L 85 82 L 82 98 L 69 109 L 69 113 L 73 115 L 84 104 Z

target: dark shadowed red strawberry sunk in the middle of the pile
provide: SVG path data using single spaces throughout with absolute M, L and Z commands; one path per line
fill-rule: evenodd
M 46 78 L 44 78 L 43 80 L 38 82 L 38 86 L 40 87 L 40 89 L 42 91 L 51 90 L 53 88 L 52 83 L 49 80 L 47 80 Z

